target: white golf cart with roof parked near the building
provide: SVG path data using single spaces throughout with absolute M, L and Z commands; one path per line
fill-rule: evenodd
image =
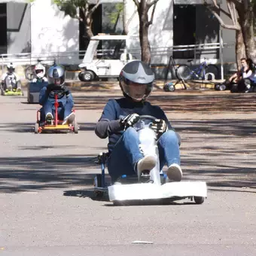
M 120 47 L 126 42 L 127 35 L 96 35 L 90 38 L 90 43 L 79 65 L 80 81 L 93 81 L 96 78 L 118 78 L 121 69 L 133 59 L 130 53 L 120 53 Z M 102 56 L 97 54 L 100 41 L 115 41 L 114 53 Z

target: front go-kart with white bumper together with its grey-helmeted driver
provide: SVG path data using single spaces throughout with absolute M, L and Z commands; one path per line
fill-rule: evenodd
M 124 98 L 110 99 L 96 124 L 96 135 L 109 139 L 108 153 L 99 155 L 102 173 L 95 178 L 96 194 L 108 191 L 113 203 L 187 197 L 203 203 L 206 183 L 181 181 L 180 137 L 163 110 L 146 101 L 153 83 L 154 73 L 144 62 L 129 62 L 120 72 Z

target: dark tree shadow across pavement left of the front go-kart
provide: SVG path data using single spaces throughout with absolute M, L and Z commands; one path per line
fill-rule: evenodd
M 92 155 L 0 157 L 0 193 L 93 186 L 93 179 L 99 173 L 95 160 L 96 156 Z

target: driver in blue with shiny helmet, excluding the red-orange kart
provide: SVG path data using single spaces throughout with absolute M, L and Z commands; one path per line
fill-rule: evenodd
M 52 123 L 55 115 L 55 94 L 58 96 L 58 117 L 63 120 L 62 124 L 72 124 L 75 113 L 72 112 L 74 105 L 72 93 L 65 86 L 66 72 L 62 66 L 54 65 L 48 69 L 47 87 L 43 87 L 39 93 L 39 104 L 41 108 L 41 121 Z

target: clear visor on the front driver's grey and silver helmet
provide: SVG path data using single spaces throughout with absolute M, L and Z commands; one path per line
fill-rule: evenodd
M 136 101 L 146 99 L 153 90 L 153 82 L 149 84 L 138 84 L 126 79 L 125 81 L 120 81 L 120 83 L 123 87 L 123 92 Z

